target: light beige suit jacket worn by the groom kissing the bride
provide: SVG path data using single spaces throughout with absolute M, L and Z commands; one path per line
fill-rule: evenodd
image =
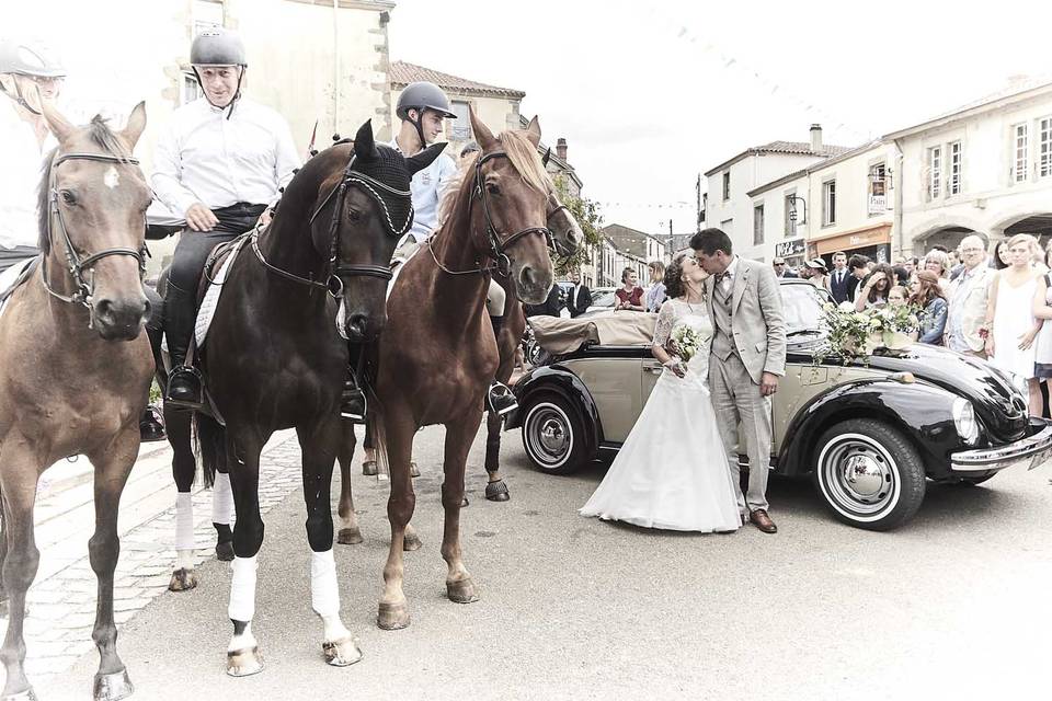
M 781 312 L 781 291 L 775 272 L 765 263 L 739 257 L 733 281 L 731 323 L 737 357 L 757 384 L 764 372 L 785 376 L 786 319 Z M 713 323 L 714 285 L 714 275 L 706 278 L 709 318 L 713 319 Z

